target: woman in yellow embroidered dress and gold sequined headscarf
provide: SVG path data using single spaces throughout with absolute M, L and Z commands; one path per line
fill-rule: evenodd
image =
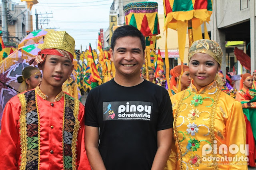
M 188 89 L 171 97 L 174 146 L 166 169 L 247 169 L 241 103 L 219 90 L 222 55 L 212 40 L 198 40 L 190 47 L 193 80 Z

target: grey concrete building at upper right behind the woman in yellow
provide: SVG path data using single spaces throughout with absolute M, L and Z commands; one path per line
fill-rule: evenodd
M 250 56 L 251 73 L 256 69 L 256 0 L 213 0 L 213 13 L 207 29 L 212 40 L 219 42 L 224 57 L 222 59 L 222 71 L 225 74 L 225 67 L 238 67 L 238 74 L 244 73 L 242 67 L 233 64 L 236 61 L 231 47 L 226 48 L 228 41 L 244 41 L 240 49 Z M 202 28 L 203 32 L 204 29 Z M 230 54 L 232 56 L 230 56 Z M 234 59 L 230 59 L 234 57 Z M 236 62 L 234 62 L 236 63 Z

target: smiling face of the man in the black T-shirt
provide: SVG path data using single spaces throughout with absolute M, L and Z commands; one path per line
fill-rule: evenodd
M 116 40 L 114 51 L 110 49 L 111 61 L 116 67 L 116 75 L 131 77 L 140 76 L 140 69 L 144 62 L 144 51 L 140 38 L 122 37 Z

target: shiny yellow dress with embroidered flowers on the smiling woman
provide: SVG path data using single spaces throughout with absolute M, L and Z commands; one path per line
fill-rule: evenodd
M 172 96 L 171 101 L 174 146 L 165 169 L 247 169 L 247 162 L 238 160 L 246 157 L 243 151 L 232 154 L 228 149 L 219 149 L 221 144 L 246 144 L 240 102 L 220 91 L 216 81 L 200 91 L 191 83 L 188 89 Z M 233 157 L 237 160 L 228 160 Z

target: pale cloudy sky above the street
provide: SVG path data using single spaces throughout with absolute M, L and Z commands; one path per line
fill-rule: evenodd
M 162 14 L 162 0 L 150 1 L 158 2 L 158 12 Z M 12 2 L 25 4 L 19 0 L 12 0 Z M 43 29 L 66 31 L 75 39 L 75 49 L 80 49 L 82 45 L 82 51 L 84 51 L 88 49 L 89 43 L 95 49 L 100 28 L 103 28 L 104 32 L 108 29 L 109 11 L 113 0 L 38 0 L 38 2 L 31 10 L 34 30 L 36 29 L 35 10 L 38 14 L 48 13 L 48 17 L 52 17 L 48 18 L 49 24 L 41 24 L 39 29 L 42 26 Z

